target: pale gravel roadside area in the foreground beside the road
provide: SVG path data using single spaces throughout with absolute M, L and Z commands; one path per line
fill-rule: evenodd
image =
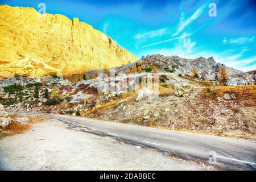
M 1 170 L 208 170 L 160 152 L 81 132 L 55 119 L 0 138 Z M 154 157 L 152 157 L 154 156 Z

